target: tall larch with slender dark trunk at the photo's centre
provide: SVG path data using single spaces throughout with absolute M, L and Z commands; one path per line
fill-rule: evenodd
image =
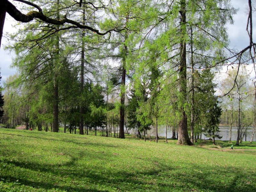
M 124 110 L 125 110 L 125 93 L 127 77 L 133 70 L 133 64 L 136 62 L 136 50 L 141 39 L 141 31 L 143 20 L 147 20 L 147 5 L 150 1 L 112 1 L 109 19 L 105 19 L 101 28 L 109 30 L 110 28 L 123 28 L 124 30 L 116 33 L 116 36 L 110 38 L 108 53 L 110 58 L 118 62 L 115 67 L 118 70 L 118 84 L 120 86 L 120 122 L 119 122 L 119 138 L 124 139 Z

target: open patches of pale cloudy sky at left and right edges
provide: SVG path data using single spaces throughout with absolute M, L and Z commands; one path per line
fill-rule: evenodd
M 247 0 L 231 0 L 231 4 L 236 9 L 239 9 L 237 14 L 233 16 L 234 24 L 227 25 L 228 27 L 228 35 L 230 39 L 230 48 L 242 50 L 243 48 L 249 45 L 249 37 L 246 31 L 246 24 L 248 14 L 246 9 L 248 7 Z M 253 21 L 255 23 L 256 14 L 254 13 Z M 4 34 L 6 32 L 14 32 L 15 28 L 12 25 L 15 25 L 17 21 L 13 20 L 8 14 L 6 15 L 6 19 L 4 22 Z M 253 31 L 256 31 L 256 26 L 253 26 Z M 9 53 L 9 51 L 4 50 L 4 45 L 7 42 L 6 37 L 2 38 L 2 45 L 0 48 L 0 72 L 2 79 L 0 81 L 0 85 L 3 86 L 3 82 L 6 81 L 7 77 L 16 73 L 15 68 L 11 68 L 12 58 L 15 56 L 14 53 Z M 255 34 L 254 34 L 255 36 Z

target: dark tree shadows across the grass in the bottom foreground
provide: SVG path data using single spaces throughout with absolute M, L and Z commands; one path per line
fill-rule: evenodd
M 85 154 L 81 154 L 85 155 Z M 126 169 L 76 166 L 77 158 L 69 162 L 56 165 L 38 164 L 30 162 L 7 161 L 7 164 L 28 169 L 35 172 L 35 177 L 44 175 L 43 178 L 33 178 L 28 175 L 24 178 L 16 172 L 17 176 L 1 174 L 1 178 L 45 190 L 58 188 L 76 192 L 108 192 L 108 191 L 211 191 L 211 192 L 255 192 L 256 176 L 253 172 L 243 172 L 235 167 L 220 167 L 208 165 L 202 167 L 198 164 L 183 164 L 176 166 L 161 162 L 161 159 L 140 159 L 148 161 L 151 168 Z M 163 161 L 163 160 L 162 160 Z M 138 162 L 139 163 L 139 162 Z M 24 174 L 24 173 L 23 173 Z M 52 177 L 54 176 L 54 177 Z M 42 180 L 44 179 L 44 180 Z M 7 181 L 6 181 L 7 182 Z

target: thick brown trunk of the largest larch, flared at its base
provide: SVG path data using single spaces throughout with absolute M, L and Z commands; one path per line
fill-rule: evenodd
M 188 137 L 187 114 L 184 106 L 187 101 L 187 61 L 186 61 L 186 0 L 180 0 L 180 113 L 177 144 L 193 145 Z

